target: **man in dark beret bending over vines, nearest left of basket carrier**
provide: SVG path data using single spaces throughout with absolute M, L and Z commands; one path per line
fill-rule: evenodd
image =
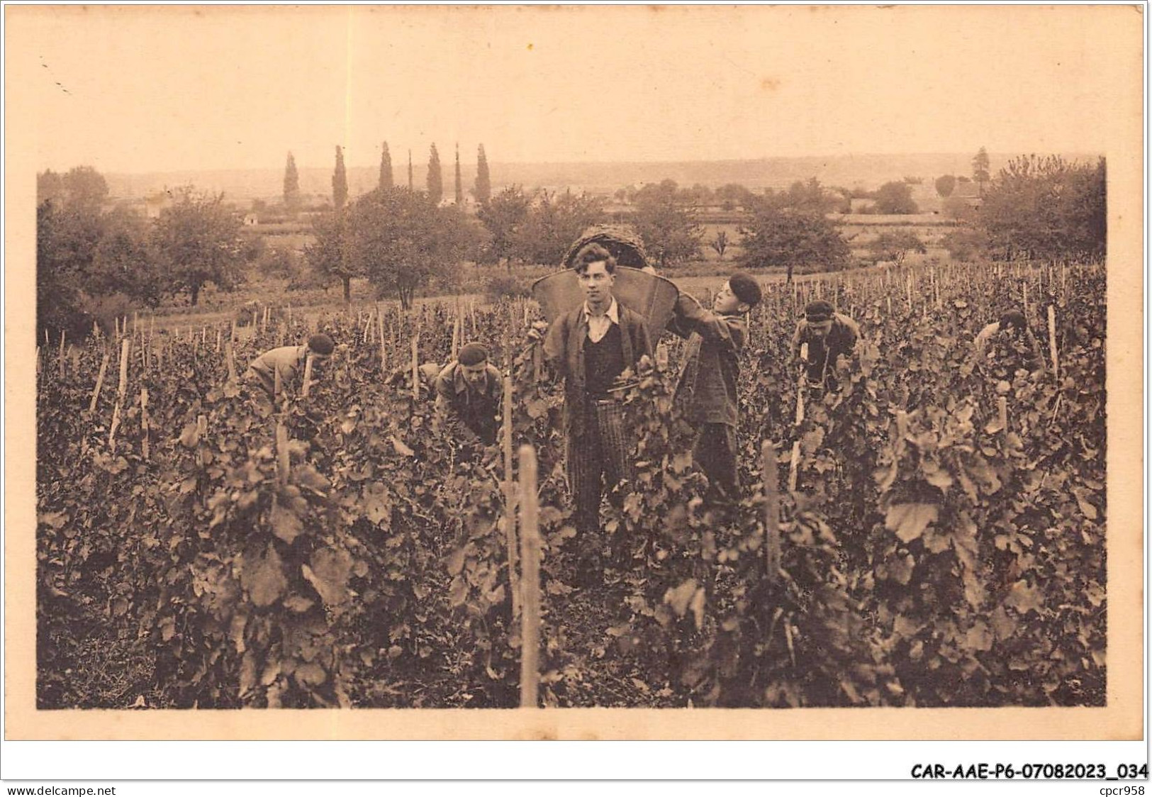
M 502 394 L 500 370 L 488 363 L 488 350 L 480 343 L 465 343 L 435 378 L 437 411 L 461 437 L 478 438 L 485 446 L 497 441 Z

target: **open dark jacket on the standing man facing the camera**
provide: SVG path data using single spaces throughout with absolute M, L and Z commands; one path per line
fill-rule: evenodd
M 620 314 L 620 346 L 624 367 L 635 367 L 644 355 L 652 356 L 644 318 L 617 302 Z M 584 382 L 584 341 L 588 340 L 588 317 L 584 306 L 569 310 L 548 327 L 544 337 L 544 356 L 564 379 L 563 428 L 574 438 L 584 434 L 584 407 L 588 390 Z

